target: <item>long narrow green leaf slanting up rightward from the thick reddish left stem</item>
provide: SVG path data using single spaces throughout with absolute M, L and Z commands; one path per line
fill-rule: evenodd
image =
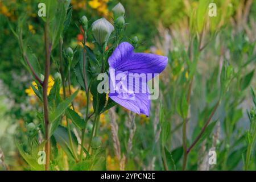
M 56 109 L 53 110 L 49 114 L 49 121 L 50 121 L 50 123 L 55 121 L 57 118 L 59 118 L 65 112 L 65 110 L 69 107 L 69 105 L 71 104 L 73 99 L 76 97 L 78 92 L 79 92 L 79 90 L 76 90 L 75 93 L 73 93 L 71 96 L 66 98 L 64 101 L 60 102 L 60 104 L 56 107 Z

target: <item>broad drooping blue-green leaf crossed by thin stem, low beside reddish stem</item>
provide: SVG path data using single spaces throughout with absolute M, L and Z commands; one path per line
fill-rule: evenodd
M 53 133 L 53 136 L 55 137 L 56 142 L 61 146 L 64 152 L 68 155 L 68 158 L 75 160 L 72 153 L 71 143 L 69 142 L 68 130 L 63 126 L 58 126 L 55 132 Z M 77 150 L 77 147 L 78 147 L 77 138 L 75 134 L 73 134 L 72 132 L 71 132 L 71 138 L 73 141 L 73 146 L 75 150 Z

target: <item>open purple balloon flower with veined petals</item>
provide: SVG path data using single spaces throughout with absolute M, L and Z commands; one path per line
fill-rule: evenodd
M 166 68 L 168 58 L 152 53 L 134 53 L 133 49 L 131 44 L 123 42 L 109 57 L 109 97 L 126 109 L 148 116 L 150 93 L 147 81 Z

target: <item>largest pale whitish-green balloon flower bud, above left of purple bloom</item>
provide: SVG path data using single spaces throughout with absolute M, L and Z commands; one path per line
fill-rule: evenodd
M 113 25 L 105 18 L 98 19 L 92 24 L 94 39 L 100 46 L 109 40 L 109 36 L 113 31 Z

